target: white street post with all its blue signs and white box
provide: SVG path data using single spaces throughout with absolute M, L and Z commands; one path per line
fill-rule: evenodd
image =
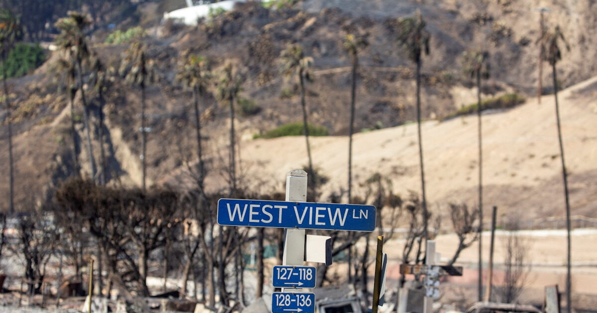
M 307 262 L 332 263 L 331 237 L 306 235 L 306 229 L 373 231 L 376 208 L 361 204 L 307 203 L 307 173 L 295 169 L 286 176 L 286 201 L 220 199 L 219 225 L 285 228 L 282 266 L 275 266 L 272 313 L 315 313 L 316 269 Z M 277 276 L 276 276 L 277 271 Z M 296 274 L 296 275 L 295 275 Z

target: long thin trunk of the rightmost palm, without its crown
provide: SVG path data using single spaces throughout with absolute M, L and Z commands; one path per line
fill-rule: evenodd
M 570 233 L 572 230 L 570 224 L 570 196 L 568 194 L 568 173 L 566 172 L 566 162 L 564 159 L 564 142 L 562 141 L 562 126 L 560 123 L 559 116 L 559 103 L 558 103 L 558 78 L 556 76 L 556 64 L 552 64 L 553 71 L 553 95 L 556 103 L 556 122 L 558 125 L 558 142 L 560 149 L 560 156 L 562 160 L 562 180 L 564 181 L 564 197 L 566 201 L 566 233 L 567 233 L 567 260 L 566 260 L 566 308 L 568 312 L 572 312 L 572 273 L 571 273 L 571 262 L 572 262 L 572 240 Z

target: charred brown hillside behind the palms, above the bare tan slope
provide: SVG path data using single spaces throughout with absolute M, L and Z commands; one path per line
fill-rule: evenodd
M 196 154 L 193 141 L 192 93 L 174 78 L 181 59 L 200 54 L 210 60 L 214 73 L 227 62 L 233 63 L 243 77 L 241 97 L 258 109 L 239 109 L 238 138 L 241 145 L 276 126 L 301 120 L 297 89 L 280 73 L 279 55 L 288 44 L 303 45 L 313 57 L 313 80 L 307 84 L 310 122 L 328 129 L 330 135 L 346 135 L 350 103 L 350 58 L 341 41 L 349 33 L 366 39 L 359 51 L 356 86 L 356 129 L 398 126 L 414 120 L 414 66 L 396 44 L 393 19 L 420 10 L 432 35 L 430 54 L 423 59 L 423 117 L 439 119 L 475 101 L 469 79 L 461 75 L 463 51 L 482 48 L 490 51 L 491 78 L 484 85 L 484 97 L 507 92 L 533 95 L 536 92 L 538 49 L 537 13 L 534 1 L 323 1 L 308 0 L 290 8 L 266 9 L 257 2 L 238 5 L 233 11 L 201 21 L 197 27 L 162 23 L 160 6 L 140 5 L 137 19 L 143 20 L 143 38 L 148 55 L 155 61 L 158 80 L 147 87 L 148 182 L 180 184 L 173 173 L 193 168 Z M 560 66 L 562 86 L 569 86 L 594 75 L 597 62 L 595 38 L 587 35 L 597 28 L 592 12 L 595 3 L 560 4 L 546 1 L 552 13 L 546 16 L 549 27 L 561 24 L 571 52 Z M 557 9 L 557 10 L 556 10 Z M 153 19 L 152 19 L 153 18 Z M 133 26 L 125 20 L 122 27 Z M 105 29 L 90 34 L 93 49 L 107 67 L 118 69 L 127 44 L 104 44 Z M 592 57 L 593 56 L 593 57 Z M 72 175 L 72 143 L 69 113 L 64 89 L 52 64 L 56 52 L 32 75 L 9 80 L 16 155 L 17 202 L 41 201 L 53 188 Z M 118 71 L 116 71 L 118 72 Z M 550 92 L 549 71 L 544 70 L 544 92 Z M 85 76 L 85 80 L 90 78 Z M 92 116 L 94 151 L 99 153 L 100 129 L 107 151 L 106 175 L 112 182 L 140 184 L 140 91 L 115 75 L 105 92 L 105 123 Z M 91 86 L 92 112 L 97 100 Z M 214 88 L 201 99 L 203 134 L 208 165 L 227 157 L 228 113 L 213 97 Z M 75 98 L 76 130 L 83 140 L 81 99 Z M 4 120 L 5 111 L 0 110 Z M 0 128 L 4 142 L 7 123 Z M 88 172 L 87 156 L 78 151 L 83 172 Z M 99 155 L 96 155 L 99 158 Z M 8 153 L 0 152 L 0 163 L 7 164 Z M 221 172 L 212 168 L 210 171 Z M 8 167 L 0 168 L 6 176 Z M 224 188 L 221 181 L 213 188 Z M 0 194 L 8 194 L 8 181 L 0 182 Z M 4 205 L 4 204 L 3 204 Z

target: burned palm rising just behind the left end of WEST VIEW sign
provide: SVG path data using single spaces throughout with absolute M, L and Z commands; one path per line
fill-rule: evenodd
M 223 104 L 230 108 L 230 194 L 236 193 L 236 135 L 234 130 L 235 101 L 241 91 L 242 79 L 233 69 L 232 63 L 227 63 L 217 83 L 216 96 Z

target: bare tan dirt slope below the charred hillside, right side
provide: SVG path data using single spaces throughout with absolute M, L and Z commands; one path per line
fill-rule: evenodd
M 570 172 L 573 214 L 597 216 L 597 77 L 562 91 L 562 132 Z M 484 114 L 484 204 L 503 218 L 563 215 L 563 187 L 552 96 L 509 111 Z M 423 125 L 423 150 L 430 203 L 476 203 L 476 116 Z M 311 138 L 313 162 L 330 178 L 325 196 L 346 190 L 347 137 Z M 379 172 L 396 191 L 420 191 L 416 123 L 355 135 L 356 194 Z M 307 163 L 304 137 L 255 140 L 242 145 L 242 172 L 250 188 L 281 191 L 285 173 Z M 217 175 L 212 186 L 220 184 Z

